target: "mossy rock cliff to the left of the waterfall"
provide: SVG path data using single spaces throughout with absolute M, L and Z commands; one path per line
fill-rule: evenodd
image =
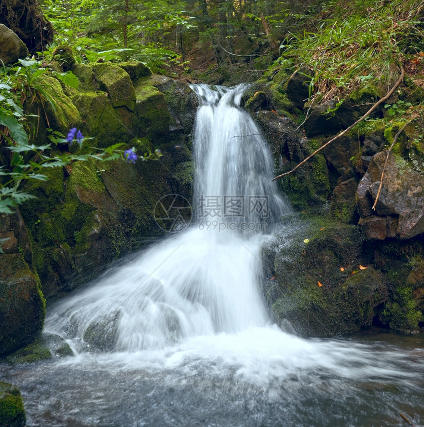
M 49 143 L 49 127 L 64 134 L 77 127 L 86 137 L 81 153 L 123 143 L 124 150 L 160 149 L 163 156 L 136 164 L 74 161 L 47 170 L 47 181 L 26 183 L 36 199 L 20 207 L 19 218 L 5 215 L 0 223 L 0 237 L 9 238 L 0 255 L 0 355 L 39 336 L 44 298 L 70 291 L 111 260 L 163 236 L 154 219 L 162 196 L 191 199 L 194 92 L 180 81 L 151 75 L 139 62 L 82 65 L 69 58 L 65 63 L 62 53 L 52 68 L 72 70 L 78 89 L 48 78 L 56 108 L 46 106 L 31 141 Z M 53 154 L 77 148 L 58 145 Z

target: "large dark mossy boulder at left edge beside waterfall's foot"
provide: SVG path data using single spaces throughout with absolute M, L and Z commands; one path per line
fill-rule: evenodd
M 45 301 L 21 253 L 0 257 L 0 356 L 20 349 L 41 333 Z

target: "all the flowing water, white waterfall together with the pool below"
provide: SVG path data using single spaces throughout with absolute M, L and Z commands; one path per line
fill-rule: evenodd
M 290 209 L 244 87 L 193 89 L 192 225 L 49 309 L 45 330 L 74 357 L 0 365 L 29 425 L 401 426 L 403 412 L 419 426 L 422 339 L 305 340 L 272 324 L 260 245 Z

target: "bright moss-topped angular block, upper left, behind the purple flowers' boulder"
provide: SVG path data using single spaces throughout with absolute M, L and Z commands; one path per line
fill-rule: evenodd
M 113 107 L 127 107 L 134 111 L 136 93 L 128 73 L 110 62 L 92 64 L 99 89 L 108 93 Z

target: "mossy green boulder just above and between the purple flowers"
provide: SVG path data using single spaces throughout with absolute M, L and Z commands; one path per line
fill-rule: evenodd
M 94 136 L 94 140 L 87 144 L 108 147 L 128 140 L 128 132 L 105 93 L 81 93 L 74 95 L 72 101 L 85 119 L 81 128 L 83 135 Z

